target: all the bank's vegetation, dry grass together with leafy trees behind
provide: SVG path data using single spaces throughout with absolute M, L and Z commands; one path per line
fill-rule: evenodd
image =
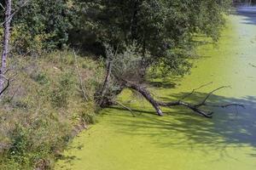
M 0 1 L 3 7 L 5 2 Z M 142 84 L 152 70 L 162 75 L 187 73 L 196 37 L 217 41 L 231 3 L 30 0 L 23 6 L 24 2 L 13 2 L 5 73 L 11 83 L 1 96 L 0 109 L 1 169 L 53 167 L 68 141 L 95 122 L 98 105 L 112 105 L 126 88 L 120 83 L 125 77 Z M 3 22 L 3 8 L 0 14 Z M 102 89 L 106 60 L 113 63 L 113 76 Z

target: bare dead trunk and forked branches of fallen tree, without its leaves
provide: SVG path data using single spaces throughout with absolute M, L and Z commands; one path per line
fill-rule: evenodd
M 108 81 L 114 81 L 117 82 L 117 88 L 119 88 L 119 92 L 121 92 L 124 88 L 130 88 L 133 91 L 136 91 L 138 94 L 141 94 L 143 96 L 144 99 L 147 99 L 148 102 L 154 107 L 154 110 L 156 111 L 156 113 L 159 116 L 163 116 L 163 112 L 161 111 L 161 107 L 173 107 L 173 106 L 177 106 L 177 105 L 181 105 L 183 107 L 189 108 L 190 110 L 194 111 L 196 114 L 199 114 L 200 116 L 205 116 L 207 118 L 211 118 L 213 112 L 212 111 L 205 111 L 203 109 L 203 106 L 207 106 L 207 100 L 212 96 L 212 94 L 214 94 L 215 92 L 217 92 L 220 89 L 223 88 L 229 88 L 227 86 L 223 86 L 220 88 L 216 88 L 214 90 L 212 90 L 210 93 L 208 93 L 204 99 L 201 100 L 200 103 L 198 104 L 191 104 L 189 102 L 183 101 L 183 99 L 188 98 L 190 95 L 194 94 L 196 90 L 204 88 L 206 86 L 208 86 L 209 84 L 212 84 L 212 82 L 209 82 L 207 84 L 203 84 L 201 85 L 199 88 L 195 88 L 192 90 L 191 93 L 183 96 L 182 99 L 179 99 L 177 101 L 171 101 L 171 102 L 162 102 L 159 101 L 157 99 L 154 99 L 154 95 L 151 94 L 147 88 L 143 87 L 142 82 L 138 82 L 137 81 L 137 77 L 134 78 L 133 75 L 137 75 L 137 70 L 132 70 L 132 69 L 126 69 L 124 67 L 129 67 L 129 68 L 133 68 L 132 65 L 126 65 L 124 64 L 124 62 L 130 62 L 130 61 L 126 61 L 124 59 L 121 59 L 120 64 L 119 63 L 112 63 L 111 61 L 114 54 L 113 54 L 113 50 L 110 48 L 110 50 L 107 48 L 107 56 L 108 56 L 108 65 L 107 65 L 107 75 L 105 78 L 105 82 L 103 83 L 103 88 L 102 88 L 102 101 L 103 101 L 103 97 L 104 97 L 104 90 L 107 88 L 108 86 Z M 125 56 L 125 54 L 124 54 Z M 122 65 L 124 64 L 124 65 Z M 131 63 L 129 63 L 131 64 Z M 136 63 L 135 63 L 136 64 Z M 120 66 L 121 65 L 121 66 Z M 113 73 L 111 72 L 113 66 Z M 118 68 L 115 68 L 118 67 Z M 117 70 L 116 72 L 114 72 L 115 70 Z M 132 76 L 131 76 L 132 75 Z M 109 80 L 110 77 L 113 77 L 113 80 Z M 116 94 L 114 94 L 116 96 Z M 109 97 L 109 96 L 108 96 Z M 112 97 L 112 96 L 111 96 Z M 105 98 L 106 100 L 106 105 L 113 105 L 115 102 L 113 101 L 113 98 Z M 101 103 L 99 103 L 100 106 L 105 107 L 106 105 L 102 105 L 102 101 Z M 122 105 L 121 105 L 122 106 Z M 220 107 L 229 107 L 229 106 L 238 106 L 237 104 L 229 104 L 229 105 L 220 105 Z

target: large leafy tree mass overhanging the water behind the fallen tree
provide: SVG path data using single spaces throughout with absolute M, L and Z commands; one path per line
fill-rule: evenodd
M 78 0 L 81 29 L 96 41 L 124 51 L 134 42 L 143 57 L 141 66 L 163 65 L 166 71 L 189 70 L 189 53 L 196 35 L 218 40 L 223 14 L 231 1 L 215 0 Z M 149 55 L 148 55 L 149 54 Z

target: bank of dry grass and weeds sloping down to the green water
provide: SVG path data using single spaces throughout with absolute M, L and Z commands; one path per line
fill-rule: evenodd
M 0 108 L 0 169 L 49 169 L 68 142 L 95 122 L 102 64 L 70 51 L 9 60 Z M 81 81 L 82 80 L 82 81 Z

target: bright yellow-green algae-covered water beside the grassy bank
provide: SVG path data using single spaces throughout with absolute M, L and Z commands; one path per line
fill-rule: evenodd
M 131 94 L 120 97 L 136 112 L 122 108 L 102 111 L 98 123 L 73 140 L 65 159 L 55 169 L 73 170 L 254 170 L 256 169 L 256 25 L 252 16 L 231 15 L 218 45 L 198 49 L 201 59 L 182 79 L 152 82 L 162 100 L 179 99 L 201 88 L 191 102 L 220 86 L 209 102 L 240 103 L 246 109 L 215 108 L 212 119 L 183 108 L 155 116 L 144 100 L 129 104 Z

